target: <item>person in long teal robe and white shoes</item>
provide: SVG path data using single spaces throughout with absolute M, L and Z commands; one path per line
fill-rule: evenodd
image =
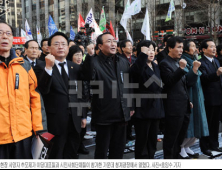
M 193 69 L 193 62 L 198 58 L 196 44 L 192 40 L 184 41 L 184 53 L 182 58 L 187 61 L 187 68 Z M 197 138 L 209 136 L 206 111 L 204 106 L 204 94 L 201 86 L 200 76 L 198 71 L 198 80 L 195 85 L 188 89 L 190 100 L 193 103 L 193 109 L 190 115 L 190 124 L 187 131 L 187 138 L 181 145 L 181 157 L 184 159 L 198 158 L 199 154 L 195 154 L 190 147 L 196 142 Z

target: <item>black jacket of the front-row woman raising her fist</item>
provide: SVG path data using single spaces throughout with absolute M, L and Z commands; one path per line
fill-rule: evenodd
M 161 95 L 161 77 L 160 70 L 157 64 L 152 62 L 153 70 L 147 65 L 147 55 L 141 53 L 130 68 L 130 74 L 133 78 L 133 83 L 139 83 L 139 88 L 135 89 L 135 94 L 141 97 L 144 95 Z M 153 82 L 149 87 L 145 84 L 148 81 L 155 81 L 156 76 L 158 83 Z M 152 80 L 153 79 L 153 80 Z M 161 119 L 165 116 L 163 101 L 159 98 L 142 98 L 141 107 L 136 107 L 136 113 L 133 118 L 137 119 Z

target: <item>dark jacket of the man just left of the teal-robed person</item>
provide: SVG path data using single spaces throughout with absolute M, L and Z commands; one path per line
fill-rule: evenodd
M 161 78 L 164 83 L 164 100 L 166 116 L 184 116 L 191 113 L 190 100 L 187 87 L 197 82 L 198 75 L 193 70 L 182 70 L 176 64 L 178 61 L 167 56 L 160 63 Z

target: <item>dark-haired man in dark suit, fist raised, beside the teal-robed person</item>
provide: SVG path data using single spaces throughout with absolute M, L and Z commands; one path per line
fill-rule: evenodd
M 183 53 L 183 39 L 179 37 L 170 38 L 167 41 L 169 55 L 160 63 L 160 72 L 163 80 L 164 93 L 167 99 L 164 100 L 165 107 L 165 136 L 164 136 L 164 158 L 178 159 L 180 145 L 185 139 L 191 113 L 191 103 L 187 86 L 197 81 L 197 74 L 186 68 L 186 60 L 181 59 Z M 181 59 L 181 60 L 180 60 Z M 195 62 L 194 70 L 200 67 Z

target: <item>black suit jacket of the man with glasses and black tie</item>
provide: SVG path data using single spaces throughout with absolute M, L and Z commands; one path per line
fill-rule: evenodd
M 67 61 L 67 64 L 70 81 L 81 81 L 80 66 L 71 61 Z M 78 90 L 79 87 L 78 84 Z M 80 132 L 81 118 L 86 118 L 86 115 L 84 112 L 83 115 L 77 115 L 77 108 L 69 107 L 69 103 L 78 104 L 83 100 L 78 99 L 77 94 L 70 94 L 69 90 L 76 91 L 76 86 L 71 85 L 70 89 L 67 89 L 56 65 L 53 67 L 52 76 L 45 70 L 42 71 L 39 89 L 45 102 L 49 132 L 54 135 L 66 133 L 70 114 L 77 132 Z

